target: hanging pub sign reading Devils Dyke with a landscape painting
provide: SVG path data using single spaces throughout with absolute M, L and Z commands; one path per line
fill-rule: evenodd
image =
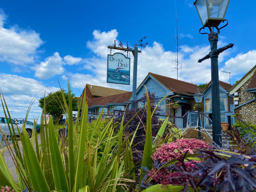
M 123 53 L 108 55 L 107 83 L 130 84 L 130 58 Z

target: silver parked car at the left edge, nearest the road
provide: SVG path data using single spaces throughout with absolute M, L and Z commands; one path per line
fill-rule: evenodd
M 11 124 L 11 120 L 9 118 L 6 119 L 5 117 L 0 117 L 0 129 L 2 132 L 4 132 L 4 134 L 9 135 L 9 127 L 8 127 L 7 121 L 9 122 L 9 124 Z M 22 124 L 16 122 L 13 119 L 12 119 L 12 124 L 13 124 L 14 132 L 16 136 L 19 136 L 18 129 L 22 134 Z M 32 129 L 33 129 L 32 125 L 26 124 L 26 131 L 28 132 L 29 138 L 31 138 L 32 136 Z

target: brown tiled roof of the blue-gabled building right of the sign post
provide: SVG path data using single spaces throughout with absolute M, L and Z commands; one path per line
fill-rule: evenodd
M 159 81 L 161 84 L 163 84 L 167 89 L 169 89 L 172 92 L 184 94 L 184 95 L 191 95 L 195 94 L 197 89 L 199 91 L 202 91 L 202 88 L 198 87 L 196 84 L 188 83 L 185 81 L 173 79 L 170 77 L 157 75 L 155 73 L 148 73 L 152 75 L 154 78 L 156 78 L 157 81 Z

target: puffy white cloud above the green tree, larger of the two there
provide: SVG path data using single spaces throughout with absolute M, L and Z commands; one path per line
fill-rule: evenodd
M 47 57 L 39 65 L 36 65 L 34 70 L 36 71 L 35 76 L 40 79 L 49 79 L 65 71 L 62 67 L 62 58 L 58 52 L 55 52 L 53 56 Z

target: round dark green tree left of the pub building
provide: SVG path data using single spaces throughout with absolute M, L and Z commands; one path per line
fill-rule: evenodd
M 65 100 L 68 104 L 68 92 L 62 89 L 62 92 L 64 94 Z M 72 100 L 72 109 L 77 110 L 77 100 L 75 98 L 75 94 L 71 92 L 71 100 Z M 54 119 L 54 122 L 57 122 L 58 118 L 65 113 L 63 111 L 63 108 L 61 106 L 64 106 L 64 101 L 62 99 L 61 90 L 56 92 L 50 92 L 45 97 L 45 111 L 46 114 L 51 115 Z M 44 97 L 40 98 L 39 105 L 41 109 L 44 108 Z

